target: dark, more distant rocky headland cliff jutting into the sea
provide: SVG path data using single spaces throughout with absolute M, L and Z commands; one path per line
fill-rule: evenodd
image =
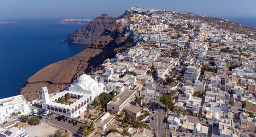
M 102 14 L 100 17 L 74 31 L 67 36 L 67 42 L 91 44 L 104 34 L 106 27 L 111 25 L 117 18 Z

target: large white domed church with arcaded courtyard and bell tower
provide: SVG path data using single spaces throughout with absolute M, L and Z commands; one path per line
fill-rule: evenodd
M 69 88 L 58 92 L 51 98 L 49 98 L 47 87 L 42 87 L 42 107 L 57 114 L 75 118 L 85 111 L 91 100 L 94 100 L 102 92 L 105 92 L 103 83 L 98 83 L 91 76 L 82 74 Z M 70 94 L 71 99 L 76 101 L 70 105 L 58 103 L 57 100 L 64 97 L 67 93 Z

